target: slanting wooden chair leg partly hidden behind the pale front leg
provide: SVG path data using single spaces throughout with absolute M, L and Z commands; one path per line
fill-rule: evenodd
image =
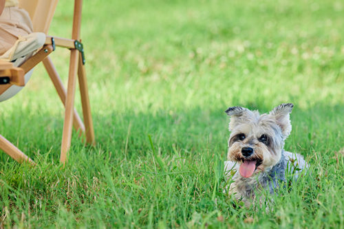
M 43 60 L 43 65 L 45 69 L 47 70 L 47 74 L 49 74 L 50 79 L 52 80 L 52 83 L 54 84 L 54 87 L 57 91 L 58 96 L 60 96 L 61 101 L 63 105 L 65 106 L 67 93 L 65 91 L 65 87 L 63 87 L 61 78 L 60 76 L 58 76 L 58 73 L 54 67 L 54 64 L 52 63 L 52 59 L 49 56 L 47 56 L 47 58 Z M 78 112 L 76 111 L 76 109 L 74 109 L 74 112 L 73 112 L 73 125 L 76 131 L 79 132 L 79 136 L 81 137 L 81 135 L 85 133 L 85 126 L 83 124 L 83 121 L 80 119 L 80 116 L 78 115 Z

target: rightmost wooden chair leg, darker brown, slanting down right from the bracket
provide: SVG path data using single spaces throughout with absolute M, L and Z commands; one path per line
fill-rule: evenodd
M 81 104 L 83 105 L 83 117 L 84 117 L 85 130 L 86 130 L 86 141 L 88 144 L 94 145 L 96 142 L 94 139 L 94 128 L 93 128 L 93 122 L 92 122 L 91 106 L 89 105 L 86 71 L 85 71 L 85 65 L 83 65 L 83 58 L 81 57 L 81 53 L 79 54 L 79 61 L 78 61 L 78 81 L 79 81 L 79 87 L 80 87 Z

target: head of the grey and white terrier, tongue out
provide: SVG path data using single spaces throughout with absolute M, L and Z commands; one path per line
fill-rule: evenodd
M 231 132 L 227 157 L 240 164 L 241 176 L 251 177 L 279 162 L 284 141 L 292 130 L 289 114 L 293 106 L 284 103 L 262 115 L 244 107 L 226 110 Z

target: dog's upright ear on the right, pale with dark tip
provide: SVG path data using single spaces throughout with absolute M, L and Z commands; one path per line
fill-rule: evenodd
M 286 139 L 292 131 L 292 124 L 290 124 L 289 114 L 292 113 L 292 103 L 282 103 L 270 111 L 270 115 L 273 116 L 282 130 L 283 138 Z

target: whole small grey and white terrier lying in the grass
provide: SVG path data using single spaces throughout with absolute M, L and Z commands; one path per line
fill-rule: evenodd
M 244 201 L 246 206 L 255 199 L 256 190 L 265 188 L 273 193 L 280 182 L 286 181 L 287 168 L 296 178 L 308 167 L 302 155 L 283 150 L 292 126 L 289 114 L 291 103 L 281 104 L 270 113 L 259 114 L 244 107 L 229 107 L 229 161 L 225 171 L 233 183 L 229 193 Z M 237 173 L 239 171 L 239 173 Z

